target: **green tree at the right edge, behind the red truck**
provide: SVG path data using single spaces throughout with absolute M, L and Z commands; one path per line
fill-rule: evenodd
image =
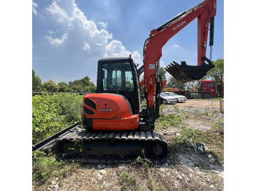
M 219 95 L 223 96 L 224 90 L 224 59 L 218 59 L 217 61 L 212 61 L 215 67 L 209 70 L 206 74 L 206 79 L 212 79 L 217 85 L 217 91 Z

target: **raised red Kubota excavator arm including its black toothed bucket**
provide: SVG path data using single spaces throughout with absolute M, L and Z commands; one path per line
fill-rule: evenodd
M 187 66 L 186 62 L 181 65 L 173 62 L 165 68 L 179 82 L 189 82 L 201 79 L 206 72 L 214 67 L 206 58 L 206 44 L 208 38 L 208 26 L 214 26 L 217 0 L 205 0 L 195 5 L 186 12 L 181 12 L 167 23 L 151 31 L 143 47 L 144 82 L 146 87 L 146 98 L 149 107 L 154 107 L 154 85 L 155 80 L 159 82 L 159 59 L 162 57 L 162 47 L 185 28 L 192 20 L 197 18 L 197 66 Z M 213 28 L 211 28 L 210 45 L 213 44 Z M 208 64 L 205 63 L 208 62 Z M 156 95 L 159 97 L 159 95 Z

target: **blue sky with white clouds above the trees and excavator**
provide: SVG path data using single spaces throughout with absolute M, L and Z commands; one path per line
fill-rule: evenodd
M 129 56 L 142 65 L 150 31 L 200 0 L 33 0 L 32 67 L 46 82 L 89 76 L 96 84 L 100 58 Z M 212 60 L 224 58 L 223 1 L 217 1 Z M 209 50 L 209 49 L 208 49 Z M 161 66 L 197 64 L 197 20 L 162 49 Z M 209 57 L 209 52 L 206 52 Z

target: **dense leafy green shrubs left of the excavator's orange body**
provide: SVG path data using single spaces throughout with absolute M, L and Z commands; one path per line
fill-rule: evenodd
M 33 144 L 80 120 L 83 95 L 59 93 L 32 98 Z

